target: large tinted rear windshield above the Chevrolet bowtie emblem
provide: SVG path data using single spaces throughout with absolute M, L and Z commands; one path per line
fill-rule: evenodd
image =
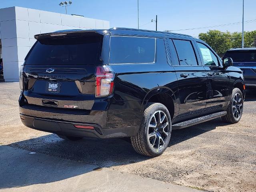
M 100 36 L 44 38 L 36 42 L 28 65 L 94 65 L 100 60 Z

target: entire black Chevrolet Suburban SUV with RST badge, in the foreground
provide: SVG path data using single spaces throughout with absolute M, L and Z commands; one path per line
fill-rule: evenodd
M 202 40 L 127 28 L 35 38 L 20 67 L 30 128 L 66 140 L 130 137 L 136 152 L 158 156 L 174 129 L 242 116 L 242 71 Z

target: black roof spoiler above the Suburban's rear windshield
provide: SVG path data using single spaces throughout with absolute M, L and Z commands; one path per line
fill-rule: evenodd
M 49 37 L 64 37 L 64 36 L 75 36 L 75 35 L 87 35 L 87 34 L 108 34 L 109 30 L 62 30 L 62 31 L 56 31 L 51 33 L 43 33 L 43 34 L 37 34 L 34 35 L 34 38 L 36 40 L 43 39 L 43 38 L 49 38 Z

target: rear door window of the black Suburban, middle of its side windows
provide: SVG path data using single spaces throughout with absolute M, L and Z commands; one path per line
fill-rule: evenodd
M 180 65 L 197 65 L 196 55 L 192 43 L 188 40 L 174 39 Z

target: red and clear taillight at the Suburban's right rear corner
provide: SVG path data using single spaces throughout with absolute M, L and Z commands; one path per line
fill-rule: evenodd
M 110 66 L 97 66 L 95 77 L 95 96 L 103 97 L 112 94 L 114 88 L 114 70 Z

